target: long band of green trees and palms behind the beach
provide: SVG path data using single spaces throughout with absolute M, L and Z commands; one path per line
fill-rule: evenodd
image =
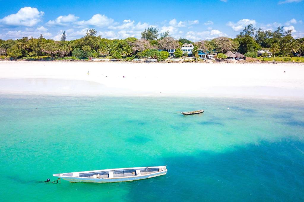
M 46 39 L 43 35 L 38 38 L 23 37 L 17 40 L 0 39 L 0 55 L 12 58 L 50 56 L 51 58 L 143 58 L 151 57 L 163 60 L 169 57 L 168 49 L 175 49 L 175 57 L 187 55 L 180 49 L 184 43 L 193 44 L 193 57 L 198 58 L 198 51 L 206 53 L 240 52 L 248 57 L 257 57 L 257 51 L 268 49 L 273 56 L 293 56 L 304 51 L 304 38 L 294 39 L 292 30 L 284 30 L 283 26 L 275 31 L 255 28 L 247 25 L 236 38 L 217 37 L 211 40 L 190 41 L 186 38 L 174 39 L 169 31 L 158 33 L 158 29 L 150 27 L 141 32 L 141 38 L 128 37 L 125 39 L 107 39 L 97 36 L 92 28 L 80 39 L 67 41 L 65 31 L 60 41 Z M 162 50 L 162 51 L 159 51 Z

